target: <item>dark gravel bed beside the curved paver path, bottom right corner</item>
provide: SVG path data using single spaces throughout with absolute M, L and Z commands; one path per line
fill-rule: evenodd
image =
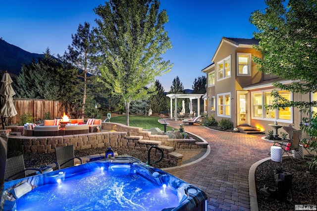
M 277 168 L 292 174 L 291 194 L 285 197 L 267 196 L 260 191 L 264 184 L 275 186 L 274 170 Z M 283 157 L 281 163 L 265 161 L 256 169 L 255 180 L 259 211 L 294 211 L 295 205 L 317 205 L 317 173 L 307 171 L 306 162 L 293 163 L 288 157 Z

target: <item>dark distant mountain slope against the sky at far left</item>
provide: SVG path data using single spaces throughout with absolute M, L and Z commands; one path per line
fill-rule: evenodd
M 0 71 L 6 70 L 10 75 L 19 75 L 22 64 L 29 64 L 32 59 L 43 54 L 30 53 L 0 39 Z

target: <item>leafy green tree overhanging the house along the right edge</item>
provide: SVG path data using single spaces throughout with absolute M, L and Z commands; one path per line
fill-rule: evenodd
M 254 33 L 259 39 L 256 49 L 262 58 L 253 58 L 261 65 L 260 70 L 280 76 L 285 80 L 299 80 L 291 84 L 274 83 L 277 88 L 295 93 L 308 94 L 317 92 L 317 3 L 316 0 L 266 0 L 264 12 L 255 11 L 250 21 L 258 31 Z M 269 109 L 296 107 L 307 112 L 304 118 L 308 125 L 302 126 L 308 134 L 317 137 L 317 117 L 310 111 L 317 107 L 317 101 L 289 101 L 280 96 L 277 90 Z M 311 144 L 312 145 L 312 144 Z M 317 143 L 315 142 L 315 150 Z M 317 159 L 315 158 L 317 165 Z

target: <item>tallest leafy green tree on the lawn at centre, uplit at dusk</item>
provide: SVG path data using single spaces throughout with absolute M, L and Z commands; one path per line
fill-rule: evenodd
M 109 0 L 94 9 L 101 50 L 100 81 L 123 98 L 126 125 L 131 101 L 154 93 L 156 76 L 172 65 L 160 55 L 171 48 L 164 30 L 166 10 L 159 11 L 159 0 Z M 149 86 L 148 89 L 145 87 Z

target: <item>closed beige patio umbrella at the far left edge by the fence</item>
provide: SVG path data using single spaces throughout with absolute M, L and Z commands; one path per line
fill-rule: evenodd
M 15 95 L 15 91 L 11 85 L 13 81 L 8 73 L 4 73 L 1 82 L 0 95 L 3 96 L 1 117 L 14 117 L 17 115 L 17 112 L 15 110 L 12 97 Z

